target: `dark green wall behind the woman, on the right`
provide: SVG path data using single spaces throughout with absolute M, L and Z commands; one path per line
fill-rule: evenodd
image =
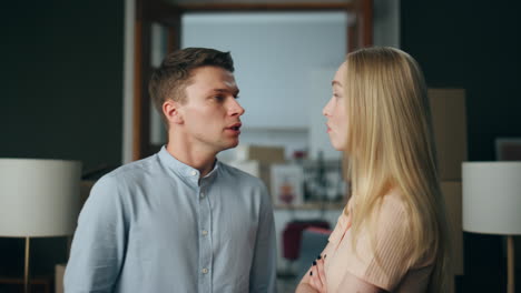
M 401 1 L 401 47 L 419 61 L 427 84 L 466 89 L 471 161 L 495 160 L 498 137 L 521 137 L 521 26 L 520 10 L 512 6 L 504 0 Z M 464 233 L 461 291 L 505 291 L 502 249 L 500 236 Z

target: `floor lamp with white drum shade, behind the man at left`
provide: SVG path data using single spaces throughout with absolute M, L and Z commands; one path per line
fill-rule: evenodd
M 26 293 L 30 283 L 30 239 L 73 233 L 80 176 L 81 163 L 77 161 L 0 159 L 0 236 L 26 239 Z

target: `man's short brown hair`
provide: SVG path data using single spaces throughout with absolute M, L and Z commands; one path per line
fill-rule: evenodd
M 168 99 L 184 102 L 185 89 L 189 83 L 191 70 L 207 65 L 223 68 L 229 72 L 235 70 L 229 52 L 208 48 L 186 48 L 174 51 L 163 60 L 158 69 L 154 70 L 148 83 L 148 92 L 165 123 L 163 103 Z

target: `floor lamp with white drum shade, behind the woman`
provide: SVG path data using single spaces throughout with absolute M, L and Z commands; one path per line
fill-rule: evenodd
M 508 292 L 514 293 L 513 235 L 521 235 L 521 162 L 464 162 L 463 230 L 507 236 Z

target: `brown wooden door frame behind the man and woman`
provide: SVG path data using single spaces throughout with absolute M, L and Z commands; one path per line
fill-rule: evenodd
M 373 44 L 373 0 L 352 2 L 277 2 L 277 3 L 178 3 L 160 0 L 136 0 L 134 55 L 134 122 L 132 160 L 157 151 L 150 144 L 150 98 L 148 78 L 150 64 L 150 28 L 153 22 L 168 27 L 168 50 L 180 48 L 180 18 L 187 12 L 277 12 L 277 11 L 345 11 L 355 16 L 347 28 L 348 52 Z

